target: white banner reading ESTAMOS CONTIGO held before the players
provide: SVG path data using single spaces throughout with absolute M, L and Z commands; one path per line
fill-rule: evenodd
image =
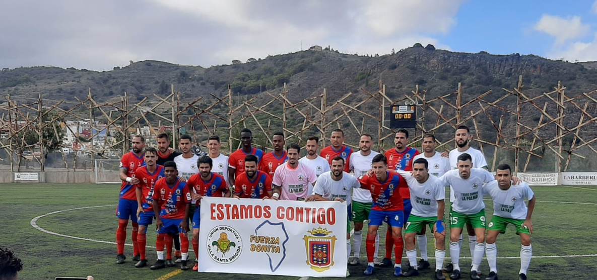
M 346 276 L 346 203 L 203 197 L 199 272 Z

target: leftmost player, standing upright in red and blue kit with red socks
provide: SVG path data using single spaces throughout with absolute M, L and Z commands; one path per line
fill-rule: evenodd
M 133 151 L 122 156 L 120 161 L 120 179 L 122 185 L 120 187 L 120 195 L 118 197 L 118 208 L 116 208 L 116 216 L 118 217 L 118 228 L 116 229 L 116 248 L 118 255 L 116 256 L 116 263 L 124 263 L 127 257 L 124 256 L 124 242 L 127 240 L 127 225 L 128 220 L 131 220 L 133 225 L 133 232 L 131 239 L 133 239 L 133 260 L 140 260 L 139 249 L 137 248 L 137 232 L 139 232 L 139 224 L 137 224 L 137 195 L 134 185 L 139 183 L 139 179 L 135 178 L 135 170 L 143 165 L 143 149 L 145 148 L 145 138 L 141 135 L 133 136 Z

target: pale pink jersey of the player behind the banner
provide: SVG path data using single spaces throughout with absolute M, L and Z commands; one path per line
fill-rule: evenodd
M 287 163 L 278 166 L 273 174 L 272 185 L 282 186 L 280 200 L 305 200 L 316 180 L 315 172 L 305 164 L 299 162 L 293 169 Z

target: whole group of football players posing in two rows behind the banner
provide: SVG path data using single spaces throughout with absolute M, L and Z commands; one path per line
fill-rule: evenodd
M 373 151 L 373 137 L 366 133 L 360 135 L 358 151 L 347 147 L 340 129 L 331 132 L 331 145 L 319 153 L 317 137 L 307 138 L 304 146 L 286 146 L 283 133 L 273 134 L 273 151 L 264 153 L 253 147 L 251 130 L 243 129 L 241 148 L 229 157 L 220 153 L 218 136 L 208 138 L 207 153 L 198 150 L 188 135 L 179 139 L 180 152 L 169 148 L 167 134 L 156 137 L 158 147 L 153 148 L 146 147 L 143 136 L 134 136 L 132 151 L 121 160 L 116 263 L 125 262 L 124 245 L 131 220 L 136 267 L 147 266 L 147 229 L 155 223 L 158 260 L 150 269 L 180 263 L 182 270 L 198 270 L 199 206 L 204 196 L 305 203 L 336 200 L 346 201 L 348 206 L 349 265 L 359 265 L 367 221 L 365 275 L 372 275 L 376 266 L 393 265 L 395 276 L 415 276 L 429 269 L 426 231 L 430 231 L 435 238 L 433 277 L 446 279 L 446 272 L 450 279 L 460 279 L 466 228 L 472 259 L 470 279 L 481 279 L 479 265 L 484 255 L 490 267 L 486 279 L 497 279 L 496 239 L 512 224 L 521 242 L 519 279 L 527 279 L 532 255 L 531 214 L 536 203 L 533 191 L 512 176 L 508 164 L 498 165 L 495 175 L 488 172 L 484 155 L 470 147 L 472 135 L 466 126 L 457 127 L 457 148 L 449 153 L 435 150 L 438 141 L 432 134 L 423 136 L 422 151 L 408 147 L 405 129 L 397 130 L 395 148 L 384 154 Z M 303 147 L 306 155 L 300 158 Z M 450 214 L 444 219 L 448 186 Z M 493 200 L 492 217 L 485 216 L 484 197 Z M 378 258 L 378 229 L 384 224 L 385 256 Z M 195 253 L 192 267 L 188 263 L 189 232 Z M 446 237 L 451 262 L 443 267 Z M 403 250 L 408 259 L 404 271 Z

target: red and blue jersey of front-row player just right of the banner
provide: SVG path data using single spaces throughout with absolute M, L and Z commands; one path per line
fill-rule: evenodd
M 372 210 L 403 211 L 404 199 L 399 190 L 408 189 L 407 181 L 398 173 L 387 171 L 387 179 L 380 182 L 377 176 L 365 175 L 359 178 L 362 189 L 368 189 L 373 198 Z

